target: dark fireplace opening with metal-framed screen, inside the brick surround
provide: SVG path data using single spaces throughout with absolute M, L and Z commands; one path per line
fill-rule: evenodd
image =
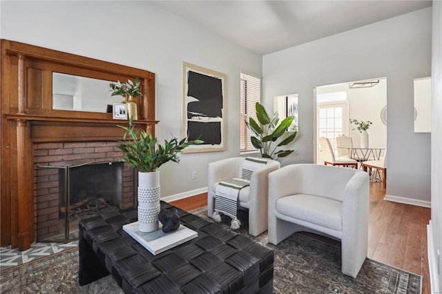
M 47 208 L 38 210 L 37 241 L 71 242 L 78 239 L 81 219 L 122 209 L 123 169 L 124 164 L 118 161 L 37 166 L 37 177 L 48 179 L 39 181 L 41 193 L 37 197 L 48 199 L 48 203 Z

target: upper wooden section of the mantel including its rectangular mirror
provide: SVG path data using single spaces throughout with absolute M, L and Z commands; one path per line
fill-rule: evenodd
M 7 47 L 12 76 L 18 77 L 13 115 L 112 120 L 108 106 L 122 103 L 122 97 L 111 97 L 109 84 L 138 78 L 142 88 L 141 99 L 135 99 L 138 119 L 155 121 L 153 72 L 15 41 L 2 40 L 2 45 Z

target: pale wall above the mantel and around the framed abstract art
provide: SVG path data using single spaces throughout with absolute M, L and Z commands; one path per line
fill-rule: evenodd
M 207 186 L 211 161 L 238 156 L 240 70 L 260 75 L 262 58 L 149 1 L 1 1 L 0 37 L 155 72 L 161 141 L 181 136 L 182 62 L 227 75 L 227 150 L 182 154 L 160 168 L 162 197 Z M 198 178 L 192 179 L 196 171 Z M 193 191 L 193 192 L 192 192 Z

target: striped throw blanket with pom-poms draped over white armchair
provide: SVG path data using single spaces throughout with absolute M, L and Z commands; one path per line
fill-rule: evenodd
M 219 182 L 215 188 L 215 211 L 213 219 L 221 222 L 221 215 L 231 217 L 231 228 L 233 230 L 240 228 L 241 222 L 237 217 L 238 196 L 240 190 L 249 186 L 251 175 L 255 170 L 262 168 L 262 164 L 267 164 L 269 159 L 256 157 L 246 157 L 241 169 L 241 179 L 233 178 Z

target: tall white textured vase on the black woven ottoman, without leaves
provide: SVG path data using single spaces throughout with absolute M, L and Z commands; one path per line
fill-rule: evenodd
M 160 172 L 138 172 L 138 225 L 142 232 L 158 229 L 160 213 Z

